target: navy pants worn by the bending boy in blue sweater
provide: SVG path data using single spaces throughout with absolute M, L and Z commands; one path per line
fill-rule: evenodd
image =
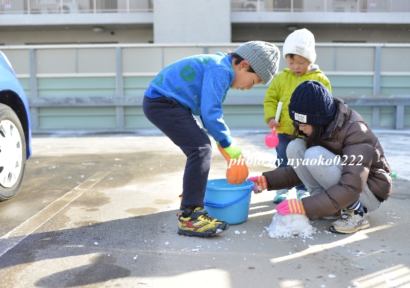
M 212 158 L 207 132 L 189 110 L 171 98 L 144 96 L 142 109 L 148 120 L 187 156 L 181 205 L 203 207 Z

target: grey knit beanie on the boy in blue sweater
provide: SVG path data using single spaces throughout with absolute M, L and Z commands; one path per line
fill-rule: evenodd
M 268 84 L 278 73 L 280 51 L 269 42 L 249 41 L 236 48 L 233 53 L 251 64 L 251 68 L 264 85 Z

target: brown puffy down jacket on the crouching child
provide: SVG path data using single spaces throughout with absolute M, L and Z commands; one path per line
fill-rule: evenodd
M 302 198 L 310 219 L 330 215 L 351 205 L 360 197 L 366 183 L 380 201 L 387 200 L 392 191 L 392 171 L 379 140 L 355 110 L 350 109 L 342 99 L 333 99 L 336 104 L 335 118 L 327 125 L 317 145 L 340 157 L 347 156 L 347 164 L 354 165 L 343 167 L 338 184 L 323 193 Z M 363 156 L 362 160 L 359 155 Z M 344 159 L 341 158 L 341 161 Z M 362 164 L 356 165 L 358 163 Z M 302 184 L 292 166 L 262 174 L 267 178 L 268 190 Z

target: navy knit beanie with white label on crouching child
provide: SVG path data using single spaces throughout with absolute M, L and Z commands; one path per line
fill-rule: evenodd
M 336 113 L 330 91 L 322 83 L 312 80 L 296 87 L 288 107 L 293 121 L 313 126 L 330 124 Z

